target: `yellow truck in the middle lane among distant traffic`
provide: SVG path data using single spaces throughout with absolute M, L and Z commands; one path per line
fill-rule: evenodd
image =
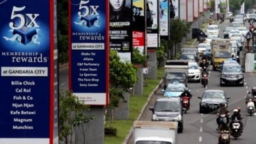
M 211 65 L 216 71 L 220 64 L 231 57 L 232 43 L 230 39 L 212 39 L 211 40 Z

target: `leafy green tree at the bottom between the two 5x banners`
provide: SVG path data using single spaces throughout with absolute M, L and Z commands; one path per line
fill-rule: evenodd
M 75 127 L 79 127 L 94 119 L 87 116 L 88 105 L 79 102 L 77 96 L 70 91 L 61 91 L 59 95 L 59 140 L 65 144 L 72 144 Z

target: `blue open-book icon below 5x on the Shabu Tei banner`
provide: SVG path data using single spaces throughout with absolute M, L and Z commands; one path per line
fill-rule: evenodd
M 80 21 L 74 21 L 74 24 L 80 25 L 80 26 L 87 26 L 88 28 L 95 26 L 99 27 L 99 16 L 95 17 L 80 17 Z

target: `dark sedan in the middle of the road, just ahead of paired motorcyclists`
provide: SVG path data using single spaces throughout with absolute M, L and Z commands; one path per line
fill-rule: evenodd
M 228 106 L 228 99 L 225 91 L 221 89 L 206 89 L 202 96 L 198 97 L 199 102 L 199 112 L 203 114 L 207 111 L 217 110 L 221 103 L 225 103 Z

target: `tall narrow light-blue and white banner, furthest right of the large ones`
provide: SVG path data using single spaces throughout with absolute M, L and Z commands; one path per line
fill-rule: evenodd
M 163 39 L 169 39 L 169 1 L 160 0 L 159 1 L 159 31 L 160 36 Z

